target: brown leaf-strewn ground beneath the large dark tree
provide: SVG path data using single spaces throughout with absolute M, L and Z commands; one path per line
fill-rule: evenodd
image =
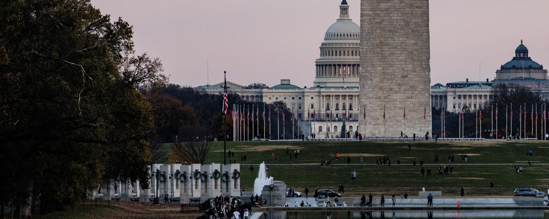
M 197 206 L 187 206 L 185 212 L 181 214 L 181 207 L 178 204 L 153 205 L 152 203 L 143 203 L 136 201 L 111 201 L 110 206 L 107 201 L 99 201 L 98 205 L 94 201 L 86 200 L 74 206 L 65 206 L 65 211 L 57 211 L 46 215 L 33 215 L 38 219 L 84 219 L 84 218 L 135 218 L 135 219 L 155 219 L 155 218 L 197 218 L 201 214 Z

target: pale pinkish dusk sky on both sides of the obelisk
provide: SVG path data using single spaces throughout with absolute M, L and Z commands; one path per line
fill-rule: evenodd
M 360 25 L 360 0 L 347 0 Z M 170 82 L 196 87 L 227 80 L 312 86 L 324 33 L 340 0 L 91 0 L 133 26 L 136 54 L 159 57 Z M 549 1 L 430 0 L 431 84 L 494 79 L 524 40 L 549 66 Z M 547 67 L 544 67 L 547 69 Z

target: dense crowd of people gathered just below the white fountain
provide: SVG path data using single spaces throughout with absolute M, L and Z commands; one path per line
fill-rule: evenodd
M 210 219 L 232 218 L 232 219 L 248 219 L 252 204 L 245 201 L 244 204 L 240 199 L 229 198 L 229 196 L 215 197 L 212 201 L 212 206 L 206 212 Z

